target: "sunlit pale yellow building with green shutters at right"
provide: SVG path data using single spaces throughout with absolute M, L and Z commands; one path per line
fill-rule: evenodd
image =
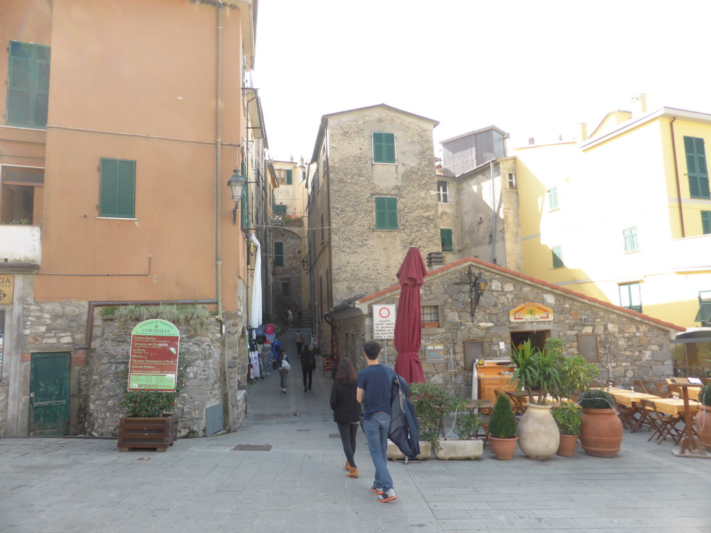
M 711 114 L 608 114 L 515 149 L 523 272 L 648 316 L 711 325 Z

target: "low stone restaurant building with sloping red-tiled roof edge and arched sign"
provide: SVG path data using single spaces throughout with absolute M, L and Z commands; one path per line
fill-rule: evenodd
M 486 279 L 479 294 L 474 281 Z M 365 365 L 360 348 L 373 339 L 373 305 L 395 304 L 400 285 L 353 298 L 328 313 L 341 357 Z M 508 360 L 511 347 L 530 339 L 561 338 L 567 355 L 583 355 L 599 367 L 599 379 L 623 386 L 632 379 L 673 375 L 671 341 L 685 328 L 614 306 L 570 289 L 519 274 L 481 259 L 465 258 L 429 271 L 422 309 L 434 328 L 422 330 L 425 380 L 469 397 L 474 362 Z M 395 365 L 393 340 L 379 340 L 381 360 Z

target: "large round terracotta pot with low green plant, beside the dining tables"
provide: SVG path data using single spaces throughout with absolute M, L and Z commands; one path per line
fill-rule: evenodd
M 622 443 L 622 422 L 615 399 L 603 389 L 587 389 L 578 401 L 582 408 L 580 445 L 595 457 L 614 457 Z

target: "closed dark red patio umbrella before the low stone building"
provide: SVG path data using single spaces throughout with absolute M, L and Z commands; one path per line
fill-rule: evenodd
M 422 362 L 417 357 L 417 352 L 422 343 L 422 296 L 419 294 L 419 287 L 424 285 L 425 274 L 427 268 L 419 254 L 419 248 L 410 248 L 400 270 L 397 271 L 397 281 L 400 281 L 402 289 L 395 316 L 395 372 L 408 383 L 424 383 Z

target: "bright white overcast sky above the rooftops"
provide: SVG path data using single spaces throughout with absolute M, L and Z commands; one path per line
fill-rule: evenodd
M 260 0 L 253 84 L 276 160 L 380 103 L 439 121 L 438 156 L 491 124 L 513 147 L 592 132 L 639 92 L 711 113 L 710 21 L 709 0 Z

